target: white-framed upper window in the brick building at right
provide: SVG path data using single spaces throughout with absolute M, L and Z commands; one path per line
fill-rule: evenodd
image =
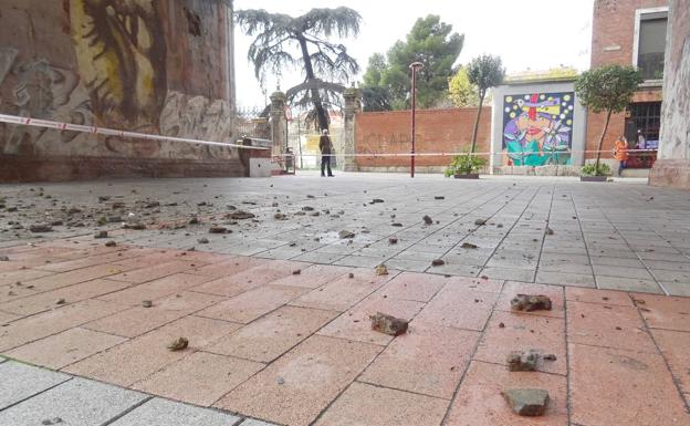
M 645 80 L 663 79 L 668 10 L 661 9 L 637 11 L 636 55 L 632 60 Z

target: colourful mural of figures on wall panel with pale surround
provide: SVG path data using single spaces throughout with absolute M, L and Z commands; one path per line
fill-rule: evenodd
M 572 82 L 496 87 L 493 166 L 581 165 L 585 117 Z

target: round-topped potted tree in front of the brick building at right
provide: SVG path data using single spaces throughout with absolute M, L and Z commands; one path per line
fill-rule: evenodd
M 608 166 L 602 167 L 602 146 L 608 129 L 610 116 L 614 113 L 621 113 L 632 100 L 632 94 L 637 90 L 642 77 L 634 66 L 605 65 L 598 69 L 585 71 L 579 74 L 575 82 L 575 93 L 579 96 L 579 102 L 595 114 L 606 113 L 604 129 L 599 136 L 599 143 L 594 166 L 586 165 L 582 168 L 581 180 L 606 181 L 606 173 L 610 174 Z M 585 170 L 587 174 L 585 174 Z M 602 173 L 606 170 L 606 173 Z M 596 178 L 596 179 L 595 179 Z

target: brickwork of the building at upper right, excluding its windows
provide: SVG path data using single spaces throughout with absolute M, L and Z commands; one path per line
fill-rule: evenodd
M 606 64 L 632 64 L 635 44 L 635 11 L 668 6 L 668 0 L 596 0 L 594 3 L 594 19 L 592 23 L 592 67 Z M 641 90 L 636 93 L 632 102 L 649 102 L 661 100 L 661 87 Z M 588 113 L 587 115 L 587 150 L 597 148 L 597 143 L 606 114 Z M 624 134 L 625 115 L 611 116 L 606 138 L 602 149 L 603 158 L 610 158 L 608 152 L 613 149 L 616 138 Z M 587 158 L 596 154 L 587 154 Z

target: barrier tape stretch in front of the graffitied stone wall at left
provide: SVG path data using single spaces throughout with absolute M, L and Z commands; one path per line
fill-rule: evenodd
M 134 139 L 184 142 L 184 143 L 187 143 L 187 144 L 228 146 L 228 147 L 232 147 L 232 148 L 243 148 L 243 149 L 259 149 L 259 150 L 268 150 L 268 149 L 270 149 L 270 148 L 265 148 L 265 147 L 261 147 L 261 146 L 245 146 L 245 145 L 239 145 L 239 144 L 231 144 L 231 143 L 227 143 L 227 142 L 213 142 L 213 141 L 191 139 L 191 138 L 187 138 L 187 137 L 151 135 L 151 134 L 148 134 L 148 133 L 116 131 L 116 129 L 107 128 L 107 127 L 84 126 L 84 125 L 80 125 L 80 124 L 51 122 L 50 120 L 18 117 L 15 115 L 4 115 L 4 114 L 0 114 L 0 123 L 17 124 L 17 125 L 32 126 L 32 127 L 54 128 L 54 129 L 58 129 L 58 131 L 91 133 L 91 134 L 94 134 L 94 135 L 129 137 L 129 138 L 134 138 Z

